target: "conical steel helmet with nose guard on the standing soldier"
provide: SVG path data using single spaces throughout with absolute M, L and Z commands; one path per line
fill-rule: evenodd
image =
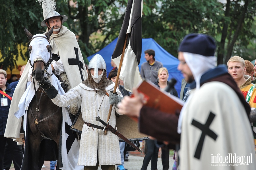
M 106 62 L 100 54 L 96 54 L 92 57 L 88 64 L 88 69 L 94 68 L 94 77 L 98 78 L 98 69 L 107 70 Z

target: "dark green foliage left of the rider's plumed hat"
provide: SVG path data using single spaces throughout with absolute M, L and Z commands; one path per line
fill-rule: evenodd
M 23 26 L 29 30 L 40 30 L 38 13 L 42 11 L 40 5 L 34 5 L 36 3 L 34 0 L 8 0 L 2 2 L 0 7 L 0 51 L 3 56 L 0 68 L 4 70 L 10 68 L 12 70 L 17 66 L 18 45 L 26 45 L 28 42 Z M 28 59 L 28 55 L 20 54 L 24 60 Z

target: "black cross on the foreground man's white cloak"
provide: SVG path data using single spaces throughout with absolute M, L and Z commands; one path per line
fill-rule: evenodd
M 202 134 L 201 134 L 201 137 L 200 137 L 199 142 L 197 144 L 197 149 L 196 149 L 195 155 L 194 155 L 194 157 L 197 158 L 197 159 L 200 159 L 203 144 L 204 144 L 204 140 L 205 140 L 205 136 L 208 135 L 209 137 L 211 137 L 214 140 L 216 140 L 216 138 L 218 137 L 218 135 L 216 135 L 216 133 L 214 133 L 209 128 L 210 124 L 212 123 L 212 121 L 214 119 L 214 117 L 215 117 L 215 114 L 210 112 L 210 114 L 208 116 L 208 119 L 207 119 L 207 121 L 204 125 L 199 123 L 195 119 L 192 120 L 191 125 L 194 125 L 195 127 L 197 127 L 198 129 L 200 129 L 202 131 Z

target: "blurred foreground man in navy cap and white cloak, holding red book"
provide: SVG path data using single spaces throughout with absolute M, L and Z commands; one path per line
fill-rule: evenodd
M 215 50 L 214 39 L 205 34 L 189 34 L 181 41 L 178 70 L 188 83 L 195 80 L 196 84 L 191 86 L 193 90 L 179 114 L 179 122 L 175 111 L 166 114 L 143 106 L 136 90 L 135 97 L 125 97 L 118 104 L 121 114 L 140 117 L 142 133 L 166 141 L 170 148 L 180 142 L 181 170 L 216 169 L 211 166 L 220 164 L 215 158 L 222 156 L 224 159 L 230 154 L 251 156 L 252 162 L 256 160 L 248 119 L 250 106 L 226 67 L 215 67 Z M 151 128 L 153 125 L 157 126 Z M 226 161 L 221 163 L 229 164 Z M 255 163 L 248 163 L 248 160 L 241 160 L 238 164 L 243 163 L 246 165 L 242 169 L 256 168 Z M 219 166 L 218 169 L 241 167 Z

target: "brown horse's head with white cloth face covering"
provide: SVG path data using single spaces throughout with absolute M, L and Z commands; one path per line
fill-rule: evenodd
M 49 43 L 49 39 L 53 33 L 53 27 L 45 35 L 32 35 L 25 27 L 24 31 L 30 39 L 28 51 L 30 66 L 33 70 L 32 75 L 37 81 L 41 81 L 45 73 L 47 73 L 46 70 L 50 65 L 51 45 Z

